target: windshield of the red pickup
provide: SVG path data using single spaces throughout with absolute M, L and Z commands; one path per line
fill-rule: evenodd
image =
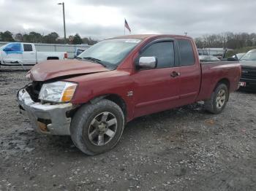
M 82 52 L 78 58 L 90 61 L 97 60 L 110 68 L 116 68 L 119 63 L 137 46 L 141 39 L 108 39 L 94 44 Z

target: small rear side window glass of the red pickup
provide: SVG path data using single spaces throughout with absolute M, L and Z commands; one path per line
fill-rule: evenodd
M 180 66 L 191 66 L 195 63 L 192 44 L 187 39 L 178 39 L 178 47 L 181 56 Z

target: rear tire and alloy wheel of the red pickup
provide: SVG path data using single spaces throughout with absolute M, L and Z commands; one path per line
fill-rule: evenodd
M 227 85 L 218 84 L 217 87 L 214 89 L 214 92 L 211 93 L 211 98 L 205 101 L 205 108 L 208 112 L 211 112 L 213 114 L 219 114 L 223 111 L 223 109 L 225 109 L 228 98 L 229 91 Z

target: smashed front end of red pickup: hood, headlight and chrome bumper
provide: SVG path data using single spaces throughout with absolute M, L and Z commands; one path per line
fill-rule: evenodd
M 18 104 L 29 115 L 37 132 L 70 135 L 71 117 L 79 106 L 70 102 L 78 83 L 67 79 L 105 71 L 110 70 L 91 61 L 38 63 L 26 74 L 26 79 L 32 82 L 18 91 Z

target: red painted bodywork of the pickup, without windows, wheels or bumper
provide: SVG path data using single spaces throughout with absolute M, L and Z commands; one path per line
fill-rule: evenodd
M 174 39 L 189 39 L 193 44 L 195 65 L 143 71 L 135 69 L 135 58 L 138 57 L 140 47 L 152 39 L 166 36 Z M 72 103 L 84 104 L 100 95 L 115 94 L 120 96 L 127 105 L 127 121 L 144 114 L 208 99 L 214 87 L 222 79 L 230 83 L 230 92 L 238 87 L 241 75 L 240 64 L 228 62 L 200 64 L 195 42 L 187 36 L 132 35 L 118 38 L 143 40 L 116 70 L 109 71 L 103 66 L 85 61 L 48 61 L 31 69 L 31 79 L 45 81 L 72 74 L 85 74 L 65 79 L 78 82 Z M 170 77 L 173 71 L 181 75 L 175 78 Z M 127 95 L 129 91 L 133 92 L 132 96 Z

